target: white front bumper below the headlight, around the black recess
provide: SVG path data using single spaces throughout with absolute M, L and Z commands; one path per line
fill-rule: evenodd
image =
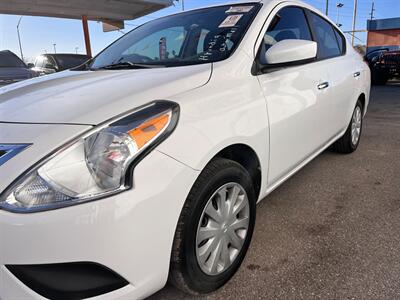
M 0 211 L 0 299 L 43 299 L 6 265 L 100 264 L 128 282 L 102 299 L 143 299 L 161 289 L 177 221 L 197 176 L 153 151 L 134 170 L 134 188 L 127 192 L 48 212 Z

